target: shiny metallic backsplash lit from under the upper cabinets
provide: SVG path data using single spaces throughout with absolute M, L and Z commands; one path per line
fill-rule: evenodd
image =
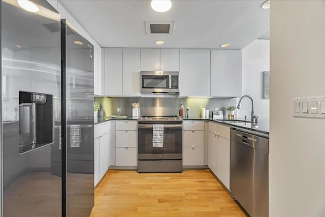
M 148 97 L 95 97 L 103 110 L 104 116 L 117 115 L 117 108 L 120 108 L 120 115 L 132 116 L 131 103 L 139 103 L 140 116 L 145 115 L 178 115 L 181 103 L 185 108 L 190 107 L 190 116 L 200 115 L 200 109 L 206 108 L 211 111 L 214 108 L 223 110 L 226 115 L 227 106 L 236 106 L 237 98 L 148 98 Z

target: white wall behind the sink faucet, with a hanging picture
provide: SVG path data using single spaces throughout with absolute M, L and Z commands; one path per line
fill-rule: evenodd
M 270 100 L 263 99 L 263 71 L 270 71 L 270 40 L 255 40 L 242 50 L 242 93 L 255 101 L 255 113 L 261 121 L 269 121 Z M 238 115 L 250 118 L 251 102 L 243 99 Z

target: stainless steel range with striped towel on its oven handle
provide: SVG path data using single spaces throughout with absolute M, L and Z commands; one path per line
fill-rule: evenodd
M 176 116 L 138 119 L 138 172 L 182 172 L 182 122 L 182 118 Z M 159 147 L 153 142 L 157 126 L 163 137 Z

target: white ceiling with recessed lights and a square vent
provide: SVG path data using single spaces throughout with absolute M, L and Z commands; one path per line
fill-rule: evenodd
M 60 2 L 102 47 L 220 48 L 229 42 L 229 49 L 242 49 L 270 28 L 264 0 L 172 0 L 165 13 L 153 11 L 148 0 Z M 176 21 L 174 35 L 146 35 L 144 21 Z

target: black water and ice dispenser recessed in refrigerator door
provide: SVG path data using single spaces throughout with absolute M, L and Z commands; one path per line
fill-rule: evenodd
M 19 153 L 54 142 L 53 95 L 19 91 Z

